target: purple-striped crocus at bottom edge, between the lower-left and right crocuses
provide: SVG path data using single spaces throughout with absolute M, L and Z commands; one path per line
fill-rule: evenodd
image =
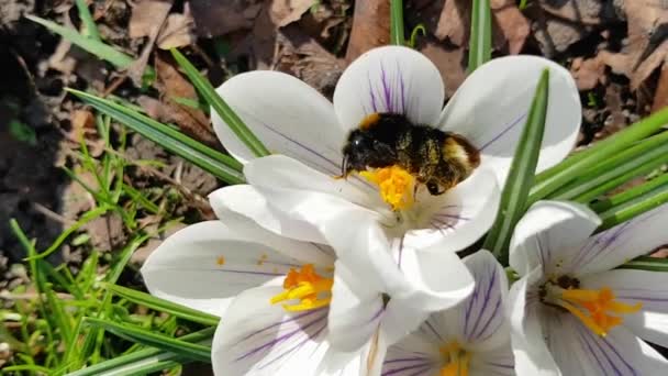
M 464 263 L 476 280 L 474 294 L 449 310 L 433 313 L 417 331 L 390 346 L 382 376 L 514 374 L 505 272 L 485 250 Z

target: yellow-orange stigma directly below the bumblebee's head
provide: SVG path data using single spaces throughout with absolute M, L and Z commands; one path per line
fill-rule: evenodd
M 359 175 L 378 186 L 380 197 L 392 210 L 408 209 L 415 202 L 415 178 L 399 166 L 360 172 Z

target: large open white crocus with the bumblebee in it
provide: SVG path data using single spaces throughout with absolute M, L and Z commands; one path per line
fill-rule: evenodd
M 244 174 L 250 186 L 221 189 L 212 200 L 281 235 L 332 245 L 354 273 L 379 275 L 386 292 L 412 299 L 416 310 L 445 309 L 471 289 L 472 280 L 454 251 L 472 244 L 493 222 L 498 186 L 508 174 L 545 68 L 550 86 L 542 170 L 570 151 L 581 108 L 570 74 L 539 57 L 489 62 L 445 109 L 436 67 L 422 54 L 399 46 L 372 49 L 350 64 L 333 104 L 285 74 L 235 76 L 218 92 L 272 153 L 281 155 L 254 159 L 214 114 L 223 145 L 247 163 Z M 366 172 L 368 179 L 357 174 L 335 178 L 342 174 L 342 148 L 349 132 L 387 113 L 457 133 L 479 154 L 480 167 L 439 196 L 431 196 L 400 168 Z M 460 147 L 452 151 L 467 155 Z M 416 197 L 411 196 L 414 191 Z M 360 232 L 365 226 L 379 231 Z M 370 254 L 368 244 L 390 252 Z

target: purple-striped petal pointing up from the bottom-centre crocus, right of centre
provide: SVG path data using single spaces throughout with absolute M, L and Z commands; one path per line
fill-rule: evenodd
M 466 257 L 464 264 L 470 270 L 476 288 L 457 307 L 459 320 L 450 323 L 460 330 L 460 336 L 469 346 L 490 351 L 510 344 L 510 325 L 505 319 L 508 278 L 494 256 L 486 250 Z

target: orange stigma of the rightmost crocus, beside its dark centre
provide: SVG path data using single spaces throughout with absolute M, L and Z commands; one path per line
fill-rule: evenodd
M 622 314 L 635 313 L 643 307 L 641 302 L 632 306 L 614 299 L 609 287 L 600 290 L 570 288 L 561 291 L 556 303 L 575 314 L 592 332 L 605 336 L 610 329 L 624 322 Z

